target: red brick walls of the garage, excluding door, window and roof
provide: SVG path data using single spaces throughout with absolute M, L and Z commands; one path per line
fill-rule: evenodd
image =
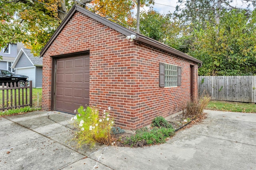
M 106 109 L 116 125 L 135 130 L 182 110 L 190 98 L 190 64 L 170 54 L 130 42 L 125 35 L 80 12 L 59 33 L 43 57 L 42 109 L 51 109 L 50 56 L 90 50 L 90 105 Z M 159 87 L 159 62 L 182 66 L 182 86 Z M 194 98 L 197 98 L 197 65 Z

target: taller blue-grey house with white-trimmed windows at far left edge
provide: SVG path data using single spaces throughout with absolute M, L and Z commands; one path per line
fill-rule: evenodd
M 14 72 L 11 66 L 22 48 L 24 48 L 22 43 L 9 44 L 7 48 L 2 48 L 0 51 L 0 56 L 2 56 L 2 60 L 0 60 L 0 68 Z

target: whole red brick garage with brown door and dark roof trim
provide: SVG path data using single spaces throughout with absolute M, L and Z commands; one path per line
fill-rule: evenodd
M 136 38 L 127 40 L 130 35 L 136 35 Z M 56 95 L 60 93 L 56 86 L 59 75 L 62 75 L 57 73 L 56 63 L 62 60 L 72 63 L 71 60 L 79 56 L 80 61 L 87 61 L 88 65 L 83 67 L 88 69 L 88 82 L 83 82 L 86 76 L 81 76 L 81 81 L 77 79 L 84 84 L 82 90 L 78 90 L 82 92 L 78 97 L 80 94 L 83 98 L 88 97 L 81 105 L 111 107 L 116 125 L 126 130 L 149 125 L 156 116 L 178 113 L 191 96 L 193 100 L 198 97 L 198 65 L 202 65 L 201 61 L 76 5 L 40 56 L 43 57 L 42 109 L 45 111 L 62 111 L 56 107 Z M 63 76 L 59 79 L 66 81 Z M 87 83 L 86 91 L 83 88 Z M 61 87 L 64 96 L 75 91 L 71 86 L 67 87 Z M 66 88 L 70 91 L 65 91 Z

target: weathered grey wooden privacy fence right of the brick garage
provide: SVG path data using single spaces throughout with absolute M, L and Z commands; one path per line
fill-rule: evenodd
M 256 76 L 198 76 L 198 94 L 212 100 L 256 103 Z

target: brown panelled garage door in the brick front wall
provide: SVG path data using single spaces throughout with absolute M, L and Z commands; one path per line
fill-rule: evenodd
M 89 55 L 56 60 L 57 111 L 74 113 L 79 106 L 89 105 Z

